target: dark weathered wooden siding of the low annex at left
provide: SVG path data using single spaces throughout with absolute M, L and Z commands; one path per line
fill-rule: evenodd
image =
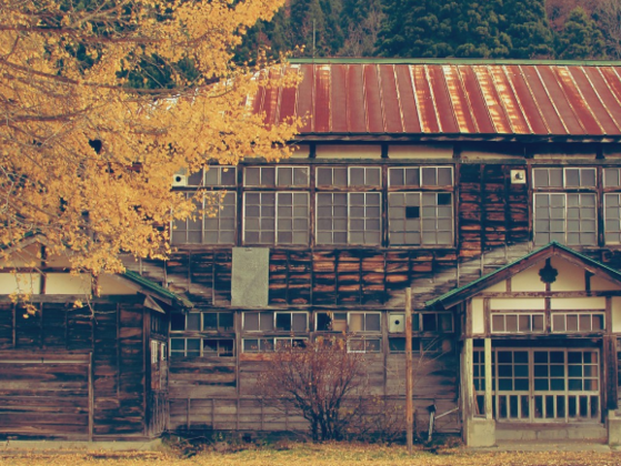
M 122 300 L 38 303 L 29 318 L 0 303 L 0 435 L 146 436 L 143 308 Z

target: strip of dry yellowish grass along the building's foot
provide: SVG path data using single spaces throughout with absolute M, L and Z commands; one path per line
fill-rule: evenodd
M 462 448 L 409 457 L 404 447 L 375 445 L 292 445 L 290 449 L 252 448 L 237 453 L 203 452 L 191 458 L 164 453 L 8 454 L 0 465 L 11 466 L 461 466 L 461 465 L 621 465 L 621 453 L 547 452 L 473 453 Z

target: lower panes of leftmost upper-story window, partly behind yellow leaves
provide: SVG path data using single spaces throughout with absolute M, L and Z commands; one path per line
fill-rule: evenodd
M 194 193 L 187 193 L 188 199 Z M 172 222 L 172 244 L 234 244 L 237 195 L 234 192 L 206 193 L 186 220 Z

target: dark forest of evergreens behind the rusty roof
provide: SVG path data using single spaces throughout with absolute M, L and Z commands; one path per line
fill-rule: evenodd
M 621 58 L 621 0 L 287 0 L 237 59 L 278 57 Z

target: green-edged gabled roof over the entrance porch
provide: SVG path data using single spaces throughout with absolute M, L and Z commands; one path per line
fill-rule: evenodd
M 552 256 L 560 256 L 568 262 L 574 263 L 575 265 L 583 267 L 584 270 L 591 272 L 595 275 L 603 275 L 608 280 L 619 284 L 621 286 L 621 272 L 609 267 L 605 264 L 602 264 L 599 261 L 595 261 L 591 257 L 585 256 L 572 249 L 552 242 L 537 251 L 531 252 L 530 254 L 524 255 L 522 259 L 519 259 L 515 262 L 504 265 L 503 267 L 498 269 L 494 272 L 491 272 L 468 285 L 451 290 L 448 293 L 444 293 L 441 296 L 438 296 L 433 300 L 425 302 L 424 304 L 428 307 L 440 307 L 440 308 L 449 308 L 459 304 L 469 297 L 474 296 L 475 294 L 480 293 L 481 291 L 502 282 L 503 280 L 509 278 L 512 275 L 515 275 L 532 265 L 550 259 Z

